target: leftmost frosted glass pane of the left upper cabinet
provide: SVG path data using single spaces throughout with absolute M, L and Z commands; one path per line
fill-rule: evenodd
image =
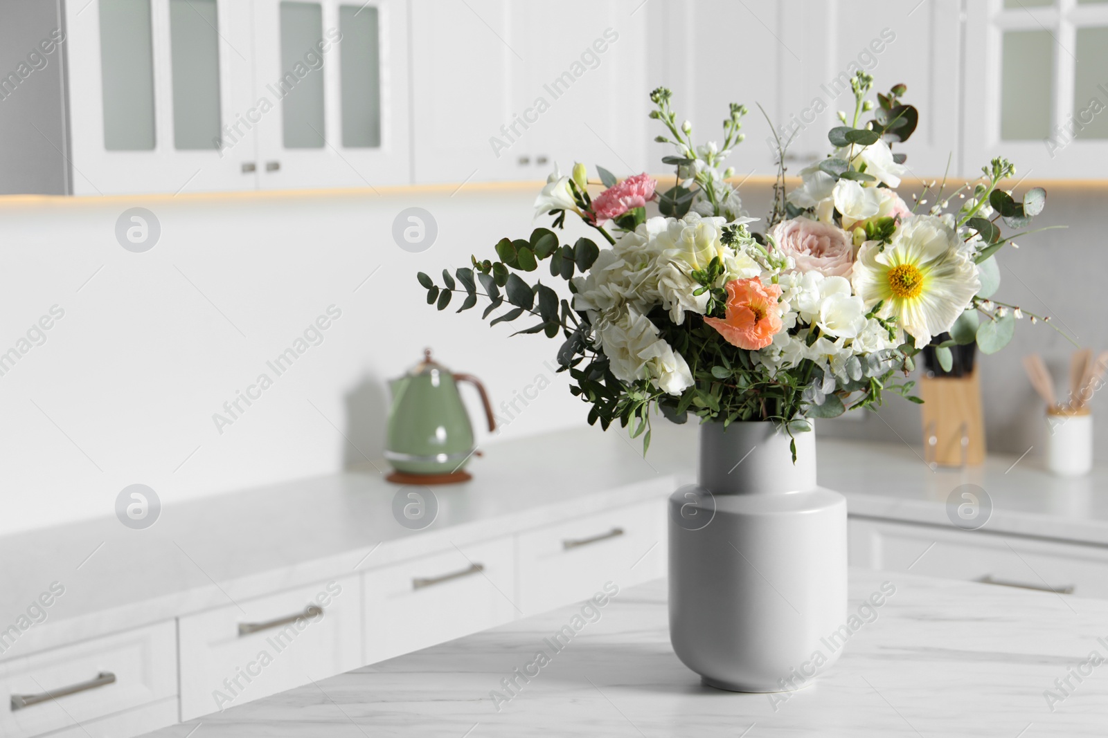
M 154 63 L 150 0 L 100 0 L 104 148 L 154 148 Z

